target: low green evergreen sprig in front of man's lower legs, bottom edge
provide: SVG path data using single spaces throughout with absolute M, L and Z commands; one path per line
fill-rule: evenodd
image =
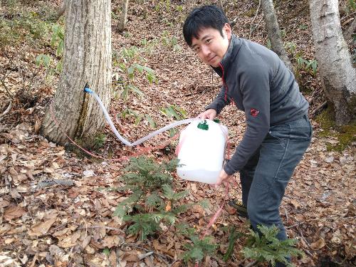
M 251 258 L 258 262 L 267 262 L 276 266 L 277 262 L 285 263 L 286 266 L 293 266 L 288 261 L 290 256 L 303 256 L 303 252 L 295 248 L 296 239 L 277 239 L 277 226 L 257 226 L 261 234 L 250 229 L 250 237 L 242 253 L 246 258 Z

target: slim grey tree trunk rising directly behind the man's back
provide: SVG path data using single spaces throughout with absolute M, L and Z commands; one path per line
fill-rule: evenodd
M 293 72 L 293 64 L 290 62 L 286 49 L 284 49 L 281 30 L 278 26 L 276 11 L 272 0 L 261 0 L 263 14 L 272 50 L 281 58 L 286 66 Z

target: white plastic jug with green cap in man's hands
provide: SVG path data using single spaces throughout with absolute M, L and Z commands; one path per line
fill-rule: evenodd
M 182 179 L 215 184 L 224 163 L 227 127 L 213 120 L 191 122 L 179 137 L 177 174 Z

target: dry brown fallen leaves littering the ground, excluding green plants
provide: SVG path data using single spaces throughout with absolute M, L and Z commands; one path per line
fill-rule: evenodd
M 135 82 L 140 85 L 144 97 L 130 95 L 130 103 L 115 98 L 110 114 L 121 114 L 125 108 L 130 108 L 150 115 L 157 127 L 163 127 L 172 119 L 164 117 L 159 112 L 161 108 L 177 105 L 187 111 L 187 117 L 194 117 L 214 99 L 221 82 L 184 45 L 181 34 L 184 14 L 177 10 L 160 9 L 157 14 L 150 12 L 150 15 L 145 15 L 145 10 L 153 9 L 158 4 L 154 2 L 153 6 L 153 2 L 149 1 L 143 5 L 132 2 L 125 31 L 127 36 L 117 33 L 113 26 L 112 46 L 117 50 L 132 44 L 140 46 L 142 38 L 159 38 L 163 31 L 169 31 L 172 36 L 177 36 L 182 50 L 174 52 L 170 47 L 159 45 L 152 54 L 145 56 L 147 66 L 155 70 L 159 83 L 148 85 L 144 78 L 137 77 Z M 184 13 L 194 4 L 194 1 L 182 4 Z M 241 18 L 234 31 L 245 38 L 248 38 L 251 23 L 251 17 L 244 14 L 248 6 L 251 8 L 247 1 L 226 3 L 229 17 Z M 280 8 L 278 12 L 278 16 L 285 20 L 287 15 L 283 10 Z M 142 23 L 140 16 L 150 16 L 150 19 Z M 173 25 L 162 22 L 164 17 L 172 18 Z M 310 24 L 308 19 L 297 19 L 303 25 Z M 257 27 L 253 41 L 264 44 L 267 36 L 263 22 Z M 307 55 L 313 56 L 310 30 L 300 31 L 303 34 L 296 35 L 294 41 L 303 46 Z M 11 79 L 9 88 L 19 87 L 16 81 L 16 78 Z M 315 90 L 320 88 L 318 78 L 308 83 L 315 84 Z M 51 97 L 54 88 L 53 85 L 53 90 L 48 90 L 42 98 Z M 179 255 L 184 252 L 182 244 L 187 240 L 174 235 L 172 229 L 165 229 L 159 239 L 137 241 L 136 236 L 125 233 L 125 223 L 112 217 L 117 204 L 127 196 L 122 192 L 103 189 L 120 186 L 117 177 L 122 174 L 125 161 L 98 162 L 96 159 L 79 158 L 38 135 L 38 118 L 43 115 L 43 101 L 38 100 L 33 110 L 15 110 L 14 114 L 21 117 L 6 117 L 0 128 L 1 266 L 182 265 Z M 244 132 L 244 115 L 237 112 L 236 116 L 236 108 L 229 106 L 219 118 L 231 131 L 229 142 L 232 155 Z M 149 125 L 145 120 L 135 125 L 130 117 L 126 117 L 120 118 L 117 128 L 133 141 L 147 135 L 152 130 Z M 355 261 L 355 145 L 342 152 L 328 152 L 327 144 L 337 144 L 337 140 L 318 137 L 320 126 L 314 121 L 313 126 L 313 142 L 295 169 L 281 205 L 288 236 L 297 238 L 299 248 L 305 251 L 304 258 L 293 261 L 297 266 L 323 266 L 326 257 L 335 261 L 342 258 L 348 262 Z M 120 157 L 135 151 L 115 140 L 109 127 L 105 128 L 105 135 L 108 140 L 102 149 L 104 154 L 112 150 L 114 156 Z M 160 145 L 167 138 L 167 133 L 159 135 L 143 147 Z M 174 157 L 173 152 L 167 150 L 152 150 L 150 154 L 158 161 Z M 236 179 L 239 180 L 239 174 L 236 174 Z M 214 203 L 209 209 L 194 206 L 192 211 L 184 214 L 184 221 L 200 231 L 204 230 L 219 201 L 224 199 L 224 190 L 178 179 L 176 182 L 189 190 L 187 199 L 196 202 L 210 199 Z M 231 189 L 230 197 L 241 199 L 239 183 Z M 245 229 L 246 225 L 234 214 L 234 209 L 225 206 L 209 229 L 209 234 L 219 241 L 219 250 L 224 253 L 229 241 L 221 226 Z M 237 241 L 229 263 L 224 263 L 219 257 L 206 256 L 204 266 L 246 263 L 239 254 L 242 246 Z

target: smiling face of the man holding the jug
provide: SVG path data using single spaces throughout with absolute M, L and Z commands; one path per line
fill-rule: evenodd
M 203 28 L 199 31 L 199 38 L 193 36 L 192 48 L 204 63 L 219 67 L 231 39 L 231 27 L 228 23 L 224 25 L 223 35 L 224 37 L 215 28 Z

